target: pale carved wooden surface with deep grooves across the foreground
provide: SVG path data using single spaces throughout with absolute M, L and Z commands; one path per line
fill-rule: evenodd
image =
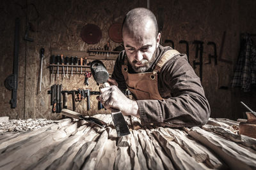
M 202 127 L 143 127 L 118 138 L 111 115 L 97 125 L 65 118 L 28 132 L 0 135 L 0 169 L 256 169 L 256 139 L 239 122 L 210 118 Z

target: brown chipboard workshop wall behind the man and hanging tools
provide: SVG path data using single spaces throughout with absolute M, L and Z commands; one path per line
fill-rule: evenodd
M 51 50 L 78 50 L 86 52 L 89 48 L 98 48 L 110 41 L 113 50 L 120 43 L 109 39 L 108 29 L 114 23 L 122 23 L 127 11 L 136 7 L 147 7 L 147 1 L 4 1 L 0 10 L 2 21 L 0 24 L 1 36 L 1 105 L 0 116 L 10 118 L 60 118 L 59 114 L 51 113 L 51 96 L 47 94 L 51 85 L 61 83 L 63 90 L 77 90 L 90 88 L 99 90 L 93 78 L 89 78 L 89 85 L 84 85 L 84 75 L 74 75 L 71 78 L 57 79 L 56 74 L 50 74 L 49 60 Z M 211 117 L 242 117 L 241 107 L 238 106 L 241 92 L 230 89 L 232 72 L 236 65 L 239 53 L 239 39 L 241 32 L 255 33 L 255 1 L 150 1 L 150 10 L 157 16 L 163 26 L 163 45 L 166 39 L 172 40 L 174 48 L 186 53 L 186 46 L 180 40 L 189 43 L 189 63 L 193 66 L 195 58 L 195 45 L 193 41 L 204 41 L 202 85 L 205 96 L 211 105 Z M 13 41 L 15 18 L 20 18 L 20 48 L 19 48 L 19 76 L 17 108 L 11 109 L 9 101 L 12 92 L 4 87 L 4 80 L 12 74 L 13 67 Z M 33 42 L 24 41 L 26 32 L 26 17 L 31 23 L 28 37 Z M 98 25 L 102 31 L 102 39 L 95 45 L 88 45 L 80 37 L 81 29 L 86 24 Z M 214 54 L 211 45 L 213 41 L 217 46 L 218 63 L 214 59 L 209 62 L 208 55 Z M 45 49 L 43 63 L 42 92 L 38 92 L 40 74 L 40 48 Z M 220 50 L 222 49 L 222 50 Z M 221 52 L 222 51 L 222 52 Z M 65 54 L 64 54 L 65 55 Z M 84 57 L 84 56 L 81 56 Z M 113 69 L 115 61 L 104 61 L 108 69 Z M 196 66 L 199 76 L 199 66 Z M 70 76 L 70 75 L 69 75 Z M 256 101 L 255 95 L 247 95 L 247 101 Z M 236 97 L 236 99 L 234 99 Z M 106 113 L 98 110 L 95 96 L 91 96 L 91 110 L 87 111 L 86 100 L 77 102 L 76 111 L 84 115 Z M 249 104 L 250 105 L 250 104 Z M 68 95 L 68 108 L 72 109 L 72 98 Z M 238 109 L 237 109 L 238 108 Z

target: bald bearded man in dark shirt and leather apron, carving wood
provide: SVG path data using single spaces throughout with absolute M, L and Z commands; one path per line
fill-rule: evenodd
M 210 107 L 186 55 L 159 45 L 154 14 L 145 8 L 127 13 L 122 26 L 125 50 L 116 59 L 111 87 L 97 99 L 105 108 L 140 117 L 141 124 L 170 127 L 204 125 Z M 129 89 L 136 101 L 124 96 Z

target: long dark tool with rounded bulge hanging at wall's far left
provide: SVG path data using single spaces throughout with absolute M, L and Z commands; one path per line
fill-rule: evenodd
M 17 106 L 18 90 L 18 71 L 19 71 L 19 40 L 20 39 L 20 19 L 15 19 L 15 38 L 14 38 L 14 55 L 13 55 L 13 74 L 4 80 L 6 89 L 12 90 L 12 99 L 10 100 L 11 108 Z

